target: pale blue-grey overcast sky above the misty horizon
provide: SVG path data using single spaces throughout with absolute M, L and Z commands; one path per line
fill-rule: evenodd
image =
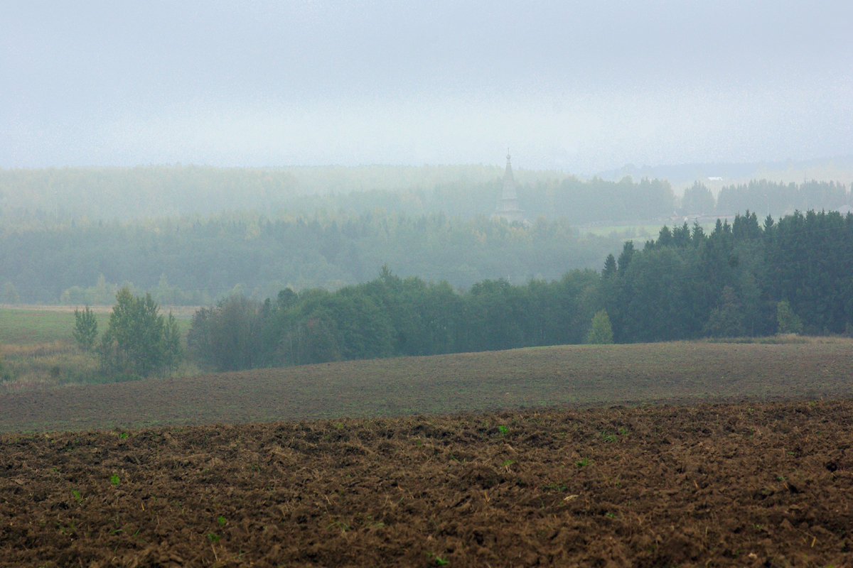
M 0 168 L 853 154 L 853 3 L 0 2 Z

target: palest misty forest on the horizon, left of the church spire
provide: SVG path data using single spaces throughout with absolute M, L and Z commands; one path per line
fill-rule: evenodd
M 252 209 L 358 215 L 376 207 L 467 217 L 491 212 L 502 173 L 483 165 L 0 169 L 0 218 L 126 221 Z M 521 169 L 516 176 L 525 183 L 558 174 Z

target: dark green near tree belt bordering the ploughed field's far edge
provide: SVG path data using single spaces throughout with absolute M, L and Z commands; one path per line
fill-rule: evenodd
M 189 353 L 216 370 L 586 341 L 853 331 L 853 214 L 747 211 L 710 233 L 664 226 L 601 271 L 469 290 L 382 267 L 334 292 L 233 295 L 195 313 Z

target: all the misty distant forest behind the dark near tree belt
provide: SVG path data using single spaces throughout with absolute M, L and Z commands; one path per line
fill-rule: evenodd
M 625 240 L 653 237 L 631 224 L 850 202 L 831 181 L 751 181 L 717 197 L 697 182 L 676 196 L 667 181 L 518 169 L 528 222 L 512 226 L 490 219 L 501 175 L 488 166 L 0 169 L 0 303 L 109 305 L 124 286 L 163 305 L 234 293 L 261 301 L 284 288 L 360 284 L 382 265 L 454 288 L 521 285 L 600 269 Z M 611 228 L 596 235 L 601 227 Z

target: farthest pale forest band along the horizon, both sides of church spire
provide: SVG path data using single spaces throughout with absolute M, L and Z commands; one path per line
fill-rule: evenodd
M 502 167 L 485 165 L 0 169 L 0 226 L 204 217 L 252 209 L 306 218 L 323 211 L 358 216 L 384 209 L 470 220 L 494 210 L 502 174 Z M 520 206 L 531 221 L 539 215 L 565 217 L 576 225 L 650 221 L 673 214 L 727 216 L 746 209 L 786 215 L 850 204 L 849 187 L 833 181 L 753 180 L 723 186 L 716 196 L 697 181 L 679 196 L 668 181 L 630 175 L 610 181 L 560 171 L 516 169 L 514 174 Z

